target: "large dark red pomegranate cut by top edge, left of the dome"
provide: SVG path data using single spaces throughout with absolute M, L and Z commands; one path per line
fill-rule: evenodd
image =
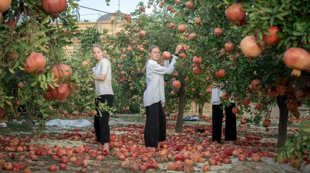
M 41 8 L 45 13 L 51 14 L 51 18 L 54 20 L 59 17 L 60 13 L 66 10 L 67 1 L 66 0 L 42 0 Z

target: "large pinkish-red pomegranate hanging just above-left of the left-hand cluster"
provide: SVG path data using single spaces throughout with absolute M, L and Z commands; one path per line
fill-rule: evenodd
M 25 72 L 28 73 L 42 73 L 46 72 L 44 67 L 46 66 L 45 57 L 38 52 L 32 52 L 25 61 L 26 65 L 23 66 Z

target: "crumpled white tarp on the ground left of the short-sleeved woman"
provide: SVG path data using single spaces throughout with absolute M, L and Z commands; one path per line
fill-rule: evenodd
M 79 120 L 61 120 L 59 118 L 46 122 L 46 126 L 71 126 L 71 127 L 86 127 L 93 126 L 90 121 L 81 118 Z

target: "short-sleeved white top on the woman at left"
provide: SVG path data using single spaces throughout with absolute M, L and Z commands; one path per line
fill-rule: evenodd
M 95 88 L 98 96 L 104 94 L 114 95 L 111 83 L 112 79 L 111 62 L 108 59 L 104 58 L 99 63 L 97 63 L 96 67 L 93 67 L 92 70 L 94 72 L 93 74 L 94 76 L 100 76 L 101 74 L 107 75 L 104 81 L 95 80 Z

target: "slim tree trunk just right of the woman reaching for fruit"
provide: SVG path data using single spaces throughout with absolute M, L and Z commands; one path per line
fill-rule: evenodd
M 181 87 L 179 89 L 179 110 L 178 118 L 176 120 L 175 132 L 182 133 L 183 128 L 183 115 L 184 115 L 184 99 L 185 99 L 185 87 L 184 83 L 181 82 Z

